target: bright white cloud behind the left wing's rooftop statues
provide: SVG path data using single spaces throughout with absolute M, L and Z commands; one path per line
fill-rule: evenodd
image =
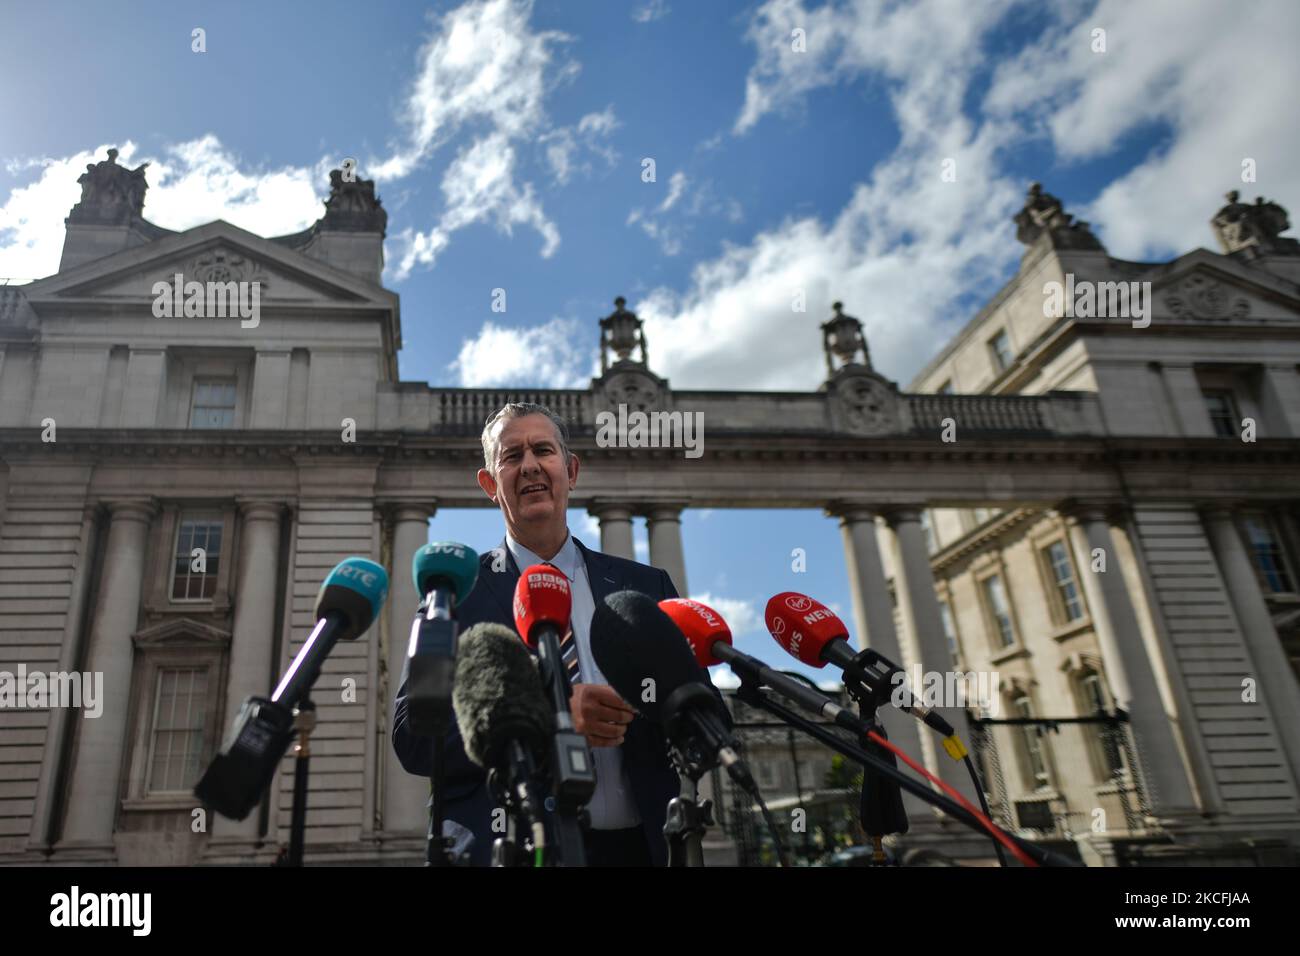
M 81 200 L 78 177 L 107 159 L 110 144 L 68 157 L 10 160 L 12 174 L 42 166 L 40 176 L 9 193 L 0 207 L 0 276 L 40 278 L 58 271 L 64 219 Z M 244 169 L 214 135 L 204 135 L 143 155 L 134 142 L 118 146 L 120 165 L 148 163 L 144 216 L 165 229 L 191 229 L 224 219 L 257 235 L 307 228 L 321 213 L 315 187 L 325 183 L 317 166 Z

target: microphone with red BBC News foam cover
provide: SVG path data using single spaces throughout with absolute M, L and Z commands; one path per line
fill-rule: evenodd
M 586 737 L 573 730 L 568 704 L 572 688 L 560 653 L 560 635 L 569 627 L 572 606 L 568 578 L 559 568 L 533 564 L 519 576 L 515 585 L 515 628 L 524 643 L 537 652 L 542 688 L 550 695 L 556 727 L 551 754 L 552 784 L 560 814 L 566 818 L 577 814 L 595 792 L 595 762 Z M 575 852 L 578 851 L 568 851 L 569 856 Z

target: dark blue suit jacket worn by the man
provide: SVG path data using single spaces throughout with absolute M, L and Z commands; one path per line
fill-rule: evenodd
M 677 589 L 666 571 L 593 551 L 576 537 L 573 542 L 586 562 L 586 578 L 597 605 L 616 591 L 638 591 L 655 601 L 677 597 Z M 462 631 L 484 620 L 515 630 L 514 597 L 519 567 L 504 541 L 500 544 L 500 550 L 506 555 L 504 571 L 491 570 L 497 554 L 489 551 L 478 558 L 478 580 L 474 589 L 456 609 Z M 705 676 L 707 679 L 707 671 Z M 398 688 L 393 717 L 393 747 L 407 773 L 428 777 L 432 773 L 433 739 L 411 732 L 407 722 L 406 685 L 407 672 L 403 666 L 402 685 Z M 443 753 L 446 754 L 445 816 L 474 834 L 471 862 L 474 866 L 486 866 L 491 862 L 491 842 L 497 836 L 491 831 L 493 801 L 488 793 L 488 775 L 465 756 L 459 727 L 452 727 L 447 735 Z M 663 866 L 668 860 L 663 825 L 668 801 L 680 793 L 681 780 L 668 760 L 667 740 L 658 724 L 641 715 L 633 718 L 623 739 L 623 766 L 641 814 L 650 858 L 656 866 Z

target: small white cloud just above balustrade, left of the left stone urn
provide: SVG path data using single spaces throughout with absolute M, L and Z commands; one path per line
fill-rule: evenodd
M 460 345 L 448 369 L 460 388 L 530 386 L 585 388 L 599 356 L 577 319 L 551 319 L 530 329 L 484 323 L 474 338 Z

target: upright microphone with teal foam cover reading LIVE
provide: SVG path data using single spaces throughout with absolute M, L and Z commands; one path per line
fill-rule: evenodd
M 456 605 L 474 589 L 478 555 L 452 541 L 428 544 L 411 558 L 411 579 L 420 610 L 407 643 L 407 714 L 412 732 L 442 736 L 451 730 Z

